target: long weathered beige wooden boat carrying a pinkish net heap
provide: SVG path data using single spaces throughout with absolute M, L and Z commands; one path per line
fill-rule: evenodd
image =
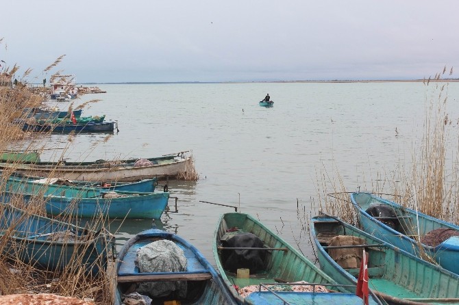
M 136 166 L 136 159 L 94 162 L 0 163 L 0 170 L 12 169 L 32 176 L 56 176 L 75 181 L 138 181 L 147 178 L 181 178 L 193 169 L 193 159 L 168 155 L 147 159 L 149 165 Z

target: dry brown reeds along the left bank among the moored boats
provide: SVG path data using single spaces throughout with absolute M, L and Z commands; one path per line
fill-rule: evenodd
M 58 61 L 57 61 L 58 62 Z M 57 64 L 57 62 L 55 64 Z M 53 65 L 50 66 L 52 68 Z M 3 70 L 0 79 L 8 79 L 9 75 L 14 75 L 17 72 L 16 66 Z M 30 71 L 22 79 L 27 77 Z M 0 124 L 3 129 L 0 129 L 0 150 L 22 150 L 23 152 L 42 151 L 46 149 L 45 136 L 40 133 L 24 133 L 17 124 L 12 124 L 16 118 L 24 118 L 22 109 L 25 107 L 39 107 L 43 101 L 43 96 L 40 92 L 31 92 L 27 89 L 27 85 L 12 85 L 10 82 L 0 85 Z M 73 107 L 73 105 L 71 106 Z M 69 136 L 69 145 L 61 150 L 60 157 L 64 155 L 66 149 L 69 149 L 72 136 Z M 8 170 L 4 170 L 1 174 L 0 195 L 5 194 L 5 179 L 14 172 L 15 166 L 19 163 L 11 163 Z M 47 185 L 43 186 L 44 188 Z M 43 192 L 45 189 L 43 190 Z M 3 204 L 3 203 L 2 203 Z M 45 200 L 36 196 L 29 202 L 25 202 L 21 196 L 13 196 L 10 198 L 10 204 L 14 207 L 23 209 L 28 215 L 46 215 Z M 0 205 L 0 217 L 3 217 L 3 205 Z M 0 218 L 1 219 L 1 218 Z M 9 228 L 2 228 L 0 232 L 0 295 L 19 294 L 19 293 L 53 293 L 65 297 L 76 297 L 79 300 L 92 300 L 95 304 L 112 304 L 112 280 L 114 275 L 112 269 L 103 265 L 102 259 L 97 260 L 95 265 L 99 272 L 97 274 L 88 274 L 84 266 L 85 257 L 84 250 L 90 247 L 89 242 L 78 244 L 78 251 L 73 252 L 69 263 L 63 269 L 43 269 L 37 266 L 34 262 L 25 263 L 23 257 L 19 255 L 21 248 L 25 247 L 21 243 L 16 243 L 14 248 L 16 251 L 6 252 L 8 247 L 11 248 L 11 237 L 17 235 L 17 223 L 12 223 Z M 60 221 L 71 224 L 82 224 L 82 220 L 66 217 L 62 215 Z M 94 220 L 87 222 L 84 226 L 88 232 L 99 230 L 106 226 L 108 220 L 104 215 L 95 217 Z M 106 235 L 110 239 L 110 235 Z M 90 241 L 94 236 L 88 233 L 86 238 Z M 109 241 L 107 241 L 109 243 Z M 66 244 L 66 241 L 64 241 Z M 113 262 L 111 257 L 113 249 L 110 249 L 109 265 Z M 111 261 L 110 261 L 111 260 Z M 99 264 L 99 265 L 97 265 Z

